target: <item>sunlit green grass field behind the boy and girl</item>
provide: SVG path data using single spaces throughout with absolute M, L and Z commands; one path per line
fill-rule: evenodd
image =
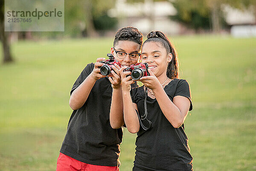
M 0 171 L 54 171 L 72 110 L 70 89 L 112 39 L 20 41 L 0 65 Z M 194 109 L 185 121 L 195 171 L 256 171 L 256 38 L 175 37 Z M 120 171 L 136 134 L 125 130 Z

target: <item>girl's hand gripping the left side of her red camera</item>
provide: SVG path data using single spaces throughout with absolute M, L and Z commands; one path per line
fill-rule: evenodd
M 131 91 L 131 84 L 134 83 L 134 81 L 131 78 L 131 72 L 130 71 L 125 71 L 123 72 L 123 70 L 126 67 L 122 67 L 119 70 L 119 73 L 121 75 L 121 81 L 122 81 L 122 91 L 127 91 L 130 92 Z M 126 77 L 126 75 L 129 75 L 128 77 Z

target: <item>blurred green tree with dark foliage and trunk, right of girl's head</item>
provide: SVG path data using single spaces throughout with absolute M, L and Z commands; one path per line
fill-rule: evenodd
M 175 17 L 192 28 L 212 28 L 212 32 L 219 33 L 223 26 L 223 13 L 221 5 L 228 4 L 235 8 L 254 6 L 256 11 L 256 0 L 174 0 L 173 5 L 178 13 Z M 256 15 L 256 14 L 255 14 Z M 207 21 L 208 20 L 208 21 Z M 211 21 L 211 22 L 209 22 Z

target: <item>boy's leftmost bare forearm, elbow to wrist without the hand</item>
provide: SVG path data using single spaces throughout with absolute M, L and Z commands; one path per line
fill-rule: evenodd
M 73 110 L 78 110 L 84 105 L 95 82 L 96 79 L 92 77 L 91 73 L 87 76 L 87 78 L 85 78 L 85 80 L 79 85 L 79 87 L 77 87 L 76 90 L 73 91 L 69 101 L 70 107 Z

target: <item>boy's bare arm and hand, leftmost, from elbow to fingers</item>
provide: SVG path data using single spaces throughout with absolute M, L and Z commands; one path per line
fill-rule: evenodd
M 105 60 L 105 58 L 97 58 L 96 63 L 94 64 L 93 72 L 91 72 L 90 75 L 88 75 L 87 78 L 85 78 L 85 80 L 79 85 L 79 87 L 77 87 L 71 94 L 69 101 L 71 109 L 78 110 L 81 108 L 87 100 L 95 82 L 98 79 L 105 77 L 105 75 L 100 74 L 99 69 L 99 67 L 103 65 L 103 63 L 99 63 L 99 61 L 103 60 Z

